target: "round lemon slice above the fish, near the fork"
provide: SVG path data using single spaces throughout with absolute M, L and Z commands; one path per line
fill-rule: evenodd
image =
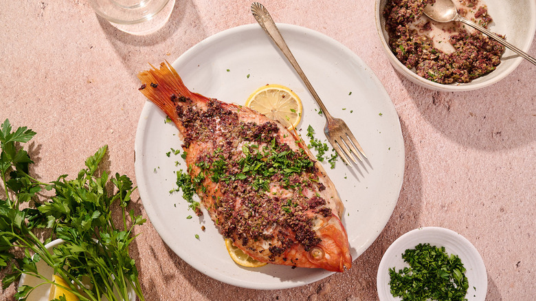
M 296 93 L 282 85 L 258 88 L 247 98 L 245 106 L 281 122 L 289 130 L 295 129 L 302 119 L 302 101 Z

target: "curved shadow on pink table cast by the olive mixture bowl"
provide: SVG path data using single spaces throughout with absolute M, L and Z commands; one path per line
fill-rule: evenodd
M 462 146 L 495 151 L 536 140 L 536 94 L 530 76 L 519 76 L 531 73 L 533 66 L 526 65 L 494 85 L 465 92 L 425 89 L 396 73 L 434 128 Z

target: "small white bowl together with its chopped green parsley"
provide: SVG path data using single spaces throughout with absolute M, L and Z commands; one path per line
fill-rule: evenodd
M 383 300 L 485 300 L 487 272 L 460 234 L 423 227 L 400 236 L 381 258 L 377 290 Z

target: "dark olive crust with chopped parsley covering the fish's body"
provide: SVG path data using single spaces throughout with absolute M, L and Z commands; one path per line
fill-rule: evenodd
M 244 122 L 218 100 L 206 109 L 177 106 L 177 112 L 185 151 L 202 148 L 188 166 L 192 185 L 224 236 L 243 245 L 269 242 L 269 260 L 295 243 L 306 251 L 320 243 L 314 220 L 332 214 L 318 194 L 325 186 L 315 161 L 283 142 L 277 124 Z

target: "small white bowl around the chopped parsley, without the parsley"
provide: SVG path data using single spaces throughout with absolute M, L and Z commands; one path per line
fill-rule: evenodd
M 465 298 L 469 301 L 483 301 L 488 291 L 488 277 L 484 261 L 476 248 L 460 234 L 442 227 L 423 227 L 412 230 L 400 236 L 383 254 L 378 267 L 376 286 L 381 301 L 399 301 L 394 298 L 389 285 L 389 269 L 396 271 L 409 267 L 402 259 L 406 249 L 414 249 L 419 243 L 429 243 L 436 247 L 445 247 L 447 254 L 458 255 L 465 267 L 465 276 L 469 282 L 469 289 Z

